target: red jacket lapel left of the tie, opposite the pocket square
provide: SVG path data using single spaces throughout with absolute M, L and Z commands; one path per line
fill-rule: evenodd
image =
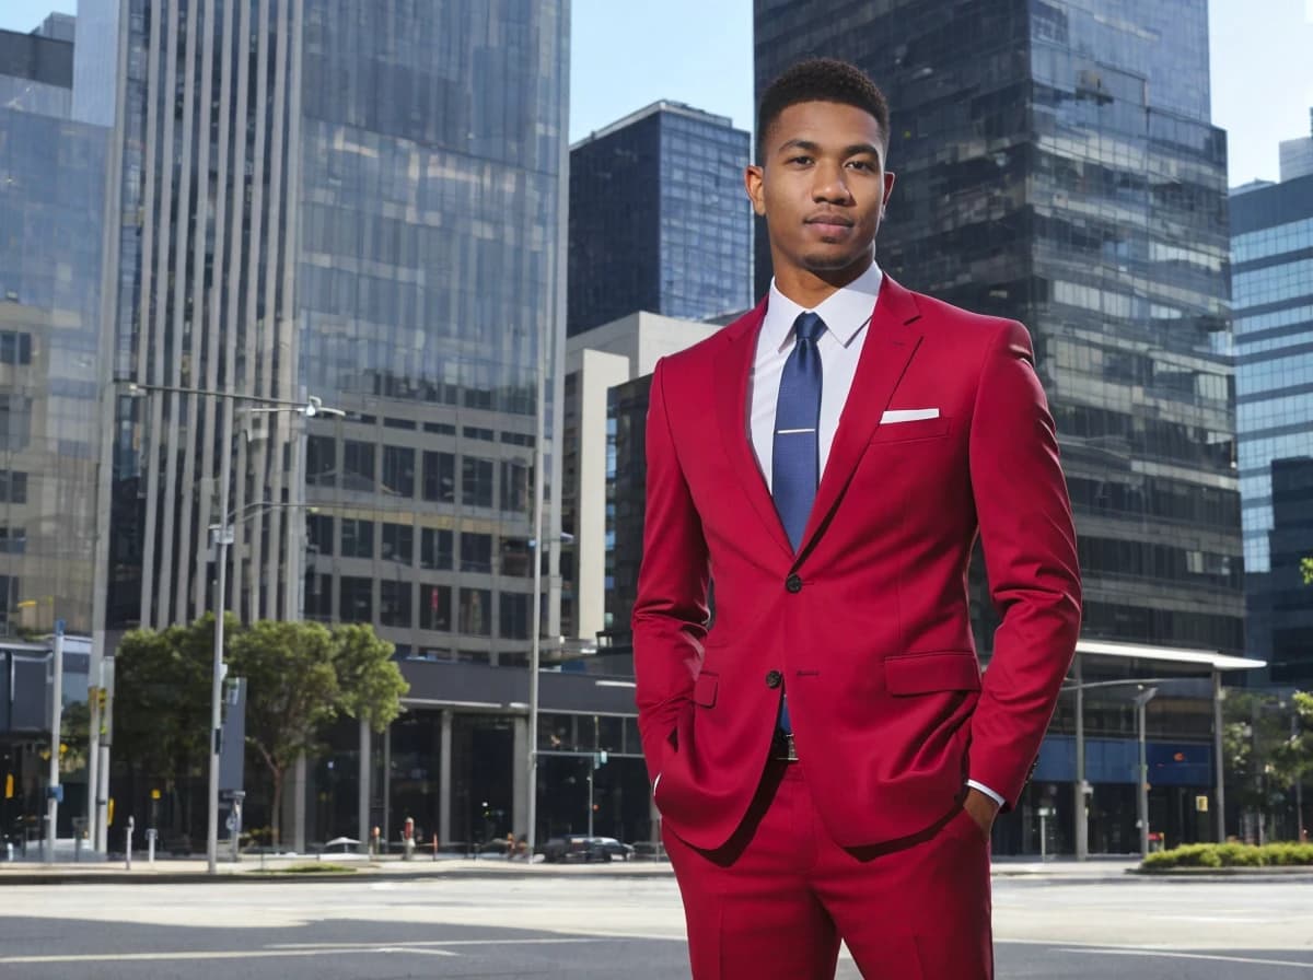
M 716 353 L 716 374 L 727 383 L 716 386 L 716 422 L 729 457 L 730 471 L 738 478 L 739 488 L 748 504 L 762 518 L 771 539 L 793 559 L 793 547 L 780 525 L 771 491 L 756 464 L 752 443 L 747 432 L 747 392 L 748 378 L 752 374 L 752 359 L 756 354 L 756 336 L 765 317 L 765 300 L 726 331 L 726 342 Z

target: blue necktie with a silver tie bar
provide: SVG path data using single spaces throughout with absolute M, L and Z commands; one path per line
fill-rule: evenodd
M 793 352 L 780 375 L 780 398 L 775 405 L 775 441 L 771 455 L 771 493 L 789 543 L 802 546 L 811 502 L 821 479 L 821 352 L 817 340 L 825 333 L 825 320 L 815 314 L 800 314 L 793 321 Z M 780 702 L 780 729 L 792 732 L 788 697 Z

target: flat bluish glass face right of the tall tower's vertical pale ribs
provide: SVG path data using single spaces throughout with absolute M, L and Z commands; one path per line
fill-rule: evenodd
M 299 366 L 349 412 L 310 426 L 307 502 L 339 526 L 311 542 L 306 605 L 403 656 L 528 663 L 565 7 L 306 4 Z

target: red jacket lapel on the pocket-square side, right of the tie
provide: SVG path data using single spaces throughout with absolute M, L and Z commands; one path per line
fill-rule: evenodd
M 920 311 L 913 294 L 886 274 L 867 327 L 867 340 L 857 361 L 852 390 L 839 416 L 839 428 L 830 445 L 830 457 L 802 533 L 800 559 L 810 550 L 815 535 L 829 522 L 831 512 L 843 497 L 867 443 L 889 407 L 894 388 L 920 344 L 922 333 L 913 325 L 919 319 Z

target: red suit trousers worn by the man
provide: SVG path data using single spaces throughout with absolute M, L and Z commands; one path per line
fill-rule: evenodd
M 695 980 L 832 980 L 840 939 L 867 980 L 994 976 L 989 841 L 961 807 L 915 837 L 846 849 L 806 764 L 771 761 L 725 846 L 662 837 Z

